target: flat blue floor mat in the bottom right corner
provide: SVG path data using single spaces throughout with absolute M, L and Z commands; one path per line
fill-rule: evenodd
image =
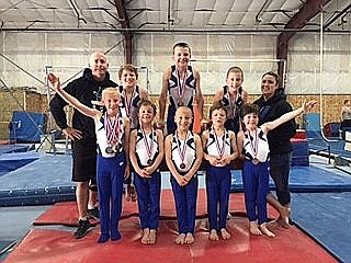
M 294 224 L 340 262 L 351 263 L 350 192 L 293 194 L 292 205 Z

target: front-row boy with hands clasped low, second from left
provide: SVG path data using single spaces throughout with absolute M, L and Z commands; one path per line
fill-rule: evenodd
M 160 215 L 161 180 L 158 170 L 163 159 L 163 134 L 152 128 L 156 106 L 141 101 L 138 107 L 139 128 L 131 134 L 131 162 L 136 172 L 134 183 L 137 192 L 143 244 L 155 244 Z

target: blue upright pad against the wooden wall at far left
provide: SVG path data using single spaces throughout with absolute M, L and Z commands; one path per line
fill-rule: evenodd
M 46 132 L 46 115 L 14 111 L 10 125 L 10 140 L 18 142 L 39 142 Z

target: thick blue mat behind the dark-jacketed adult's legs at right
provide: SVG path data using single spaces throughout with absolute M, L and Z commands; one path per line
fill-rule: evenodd
M 231 173 L 231 192 L 242 192 L 241 171 Z M 270 179 L 270 190 L 275 190 Z M 351 176 L 332 168 L 321 169 L 316 165 L 292 167 L 290 190 L 295 193 L 344 192 L 351 191 Z

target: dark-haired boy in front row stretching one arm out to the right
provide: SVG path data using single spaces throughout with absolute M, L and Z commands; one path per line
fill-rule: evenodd
M 269 145 L 268 132 L 283 123 L 307 113 L 316 104 L 316 101 L 304 103 L 302 107 L 285 113 L 273 122 L 268 122 L 258 127 L 260 110 L 254 104 L 244 106 L 244 135 L 245 163 L 242 169 L 242 182 L 245 204 L 249 218 L 250 233 L 275 237 L 267 227 L 267 194 L 269 191 Z M 240 137 L 241 138 L 241 137 Z

